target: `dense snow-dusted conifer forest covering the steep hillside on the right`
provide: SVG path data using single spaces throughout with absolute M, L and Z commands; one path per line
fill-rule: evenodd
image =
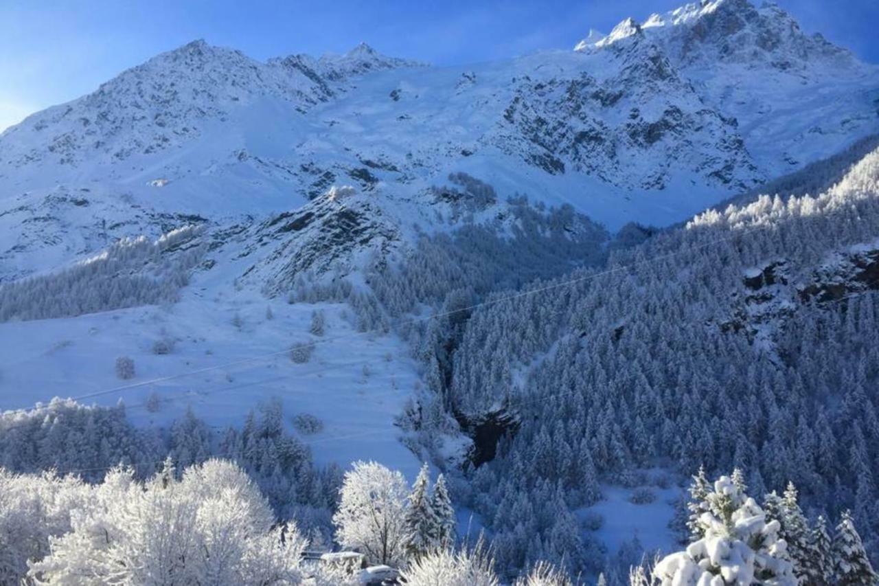
M 810 516 L 852 509 L 879 551 L 877 193 L 873 151 L 824 194 L 707 212 L 412 333 L 439 404 L 413 414 L 426 445 L 461 414 L 518 422 L 461 490 L 498 559 L 590 568 L 565 511 L 656 462 L 740 467 L 758 497 L 792 481 Z

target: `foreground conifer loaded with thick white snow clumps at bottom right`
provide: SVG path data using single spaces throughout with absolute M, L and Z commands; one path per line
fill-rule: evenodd
M 657 582 L 796 586 L 778 521 L 767 521 L 728 476 L 716 480 L 706 502 L 708 510 L 698 520 L 703 537 L 660 560 L 653 570 Z

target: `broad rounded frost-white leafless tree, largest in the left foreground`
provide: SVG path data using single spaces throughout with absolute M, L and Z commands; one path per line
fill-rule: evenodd
M 229 462 L 193 466 L 180 480 L 166 465 L 145 484 L 117 469 L 29 575 L 50 583 L 300 584 L 307 542 L 294 526 L 273 524 L 268 502 Z

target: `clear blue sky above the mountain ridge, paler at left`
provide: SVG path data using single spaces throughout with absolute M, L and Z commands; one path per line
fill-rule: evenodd
M 760 4 L 762 0 L 752 0 Z M 643 20 L 684 0 L 0 0 L 0 130 L 93 91 L 152 55 L 203 38 L 260 60 L 344 52 L 436 64 L 571 48 L 590 28 Z M 879 62 L 879 0 L 779 0 L 820 31 Z

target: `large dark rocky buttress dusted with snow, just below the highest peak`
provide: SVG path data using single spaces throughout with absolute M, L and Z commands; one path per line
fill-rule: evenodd
M 707 107 L 655 45 L 633 41 L 607 54 L 614 73 L 601 79 L 526 78 L 498 146 L 551 174 L 583 172 L 628 189 L 662 190 L 686 176 L 745 191 L 764 179 L 737 122 Z

